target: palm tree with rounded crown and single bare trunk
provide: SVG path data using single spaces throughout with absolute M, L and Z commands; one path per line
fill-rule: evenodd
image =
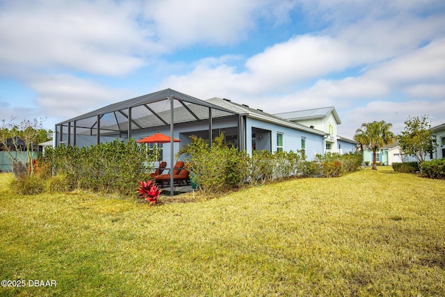
M 381 120 L 380 122 L 364 123 L 361 129 L 355 131 L 355 141 L 373 150 L 373 170 L 377 170 L 377 163 L 375 163 L 377 151 L 380 147 L 392 143 L 396 137 L 394 133 L 389 131 L 391 127 L 391 123 Z

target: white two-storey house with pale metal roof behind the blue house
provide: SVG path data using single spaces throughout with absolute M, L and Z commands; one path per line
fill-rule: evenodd
M 323 138 L 323 153 L 336 152 L 343 154 L 346 152 L 355 152 L 357 142 L 341 137 L 337 133 L 337 126 L 341 124 L 341 120 L 333 106 L 321 109 L 275 113 L 275 115 L 290 120 L 291 122 L 325 132 L 326 135 Z

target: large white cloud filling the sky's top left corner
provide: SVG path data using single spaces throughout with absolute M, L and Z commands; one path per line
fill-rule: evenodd
M 0 62 L 31 70 L 126 74 L 144 64 L 140 55 L 151 45 L 130 18 L 133 10 L 113 1 L 3 3 L 0 43 L 7 46 L 0 48 Z

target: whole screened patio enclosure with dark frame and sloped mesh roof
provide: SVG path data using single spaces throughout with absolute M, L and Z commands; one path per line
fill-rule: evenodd
M 171 142 L 163 144 L 162 159 L 168 167 L 175 162 L 180 145 L 190 143 L 189 136 L 213 139 L 225 132 L 227 143 L 244 149 L 241 115 L 210 102 L 172 89 L 127 99 L 56 124 L 56 146 L 61 143 L 89 146 L 98 143 L 139 140 L 163 133 Z M 173 138 L 180 143 L 174 143 Z M 211 141 L 210 141 L 211 143 Z M 171 170 L 172 172 L 173 170 Z M 170 177 L 173 193 L 173 175 Z

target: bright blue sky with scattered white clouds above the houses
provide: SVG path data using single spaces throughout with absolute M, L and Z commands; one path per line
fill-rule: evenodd
M 172 88 L 268 113 L 334 106 L 339 135 L 445 122 L 443 0 L 0 0 L 0 120 L 45 129 Z

